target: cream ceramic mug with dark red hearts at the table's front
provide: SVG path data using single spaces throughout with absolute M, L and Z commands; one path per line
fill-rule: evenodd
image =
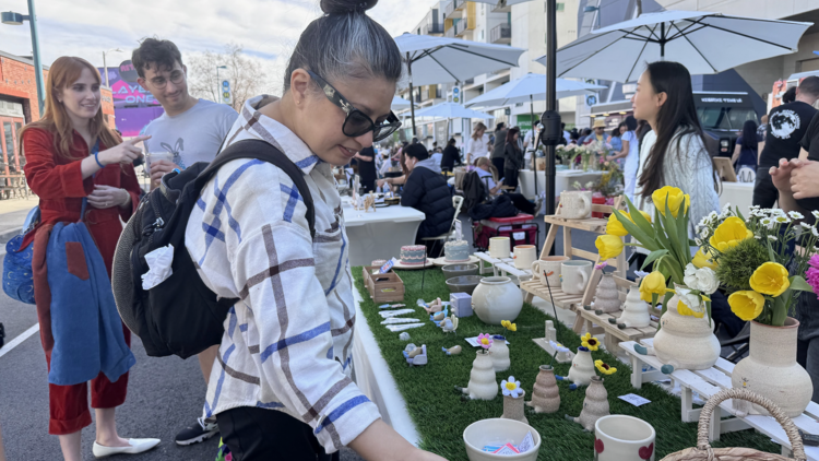
M 597 461 L 654 461 L 656 432 L 651 424 L 626 415 L 603 416 L 594 423 L 594 459 Z

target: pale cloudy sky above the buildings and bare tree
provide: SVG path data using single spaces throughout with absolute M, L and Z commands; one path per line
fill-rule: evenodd
M 435 0 L 381 0 L 369 14 L 393 35 L 408 32 Z M 40 56 L 50 64 L 70 55 L 103 66 L 130 59 L 140 38 L 157 36 L 179 46 L 182 58 L 204 50 L 221 51 L 227 43 L 283 72 L 284 63 L 307 24 L 321 14 L 318 0 L 36 0 Z M 27 14 L 25 0 L 3 0 L 0 10 Z M 0 50 L 31 55 L 28 23 L 0 24 Z M 280 75 L 271 75 L 280 81 Z

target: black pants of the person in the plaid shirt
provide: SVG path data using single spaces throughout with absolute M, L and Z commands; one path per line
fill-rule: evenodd
M 312 428 L 276 410 L 238 406 L 216 415 L 234 461 L 339 461 L 327 454 Z

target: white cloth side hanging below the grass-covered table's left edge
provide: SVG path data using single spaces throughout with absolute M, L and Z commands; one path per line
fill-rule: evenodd
M 361 295 L 355 287 L 353 288 L 353 296 L 356 303 L 356 324 L 355 334 L 353 334 L 353 369 L 355 370 L 356 385 L 378 406 L 384 423 L 391 425 L 402 437 L 417 446 L 418 430 L 410 417 L 406 402 L 395 386 L 395 379 L 390 373 L 390 367 L 381 355 L 376 336 L 372 335 L 367 319 L 361 312 Z M 415 330 L 407 331 L 413 334 Z M 395 351 L 395 353 L 401 354 L 401 351 Z

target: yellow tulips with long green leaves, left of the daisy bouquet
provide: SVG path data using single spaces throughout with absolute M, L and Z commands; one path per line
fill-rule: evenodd
M 712 269 L 692 264 L 688 238 L 691 199 L 682 190 L 668 186 L 655 190 L 651 198 L 654 203 L 653 217 L 638 210 L 628 198 L 628 213 L 613 211 L 606 234 L 595 241 L 601 259 L 616 258 L 625 245 L 646 249 L 650 253 L 640 269 L 653 262 L 654 271 L 643 277 L 640 297 L 652 306 L 662 299 L 665 314 L 668 300 L 676 294 L 680 315 L 701 318 L 708 314 L 710 321 L 711 299 L 708 295 L 716 291 L 719 283 Z M 637 241 L 624 244 L 621 237 L 627 235 Z

